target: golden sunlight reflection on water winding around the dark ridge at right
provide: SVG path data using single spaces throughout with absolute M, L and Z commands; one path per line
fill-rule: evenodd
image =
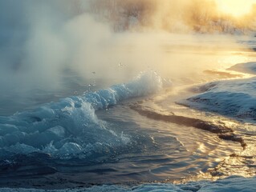
M 246 74 L 245 76 L 246 77 Z M 251 75 L 250 75 L 251 77 Z M 191 86 L 177 87 L 173 90 L 168 90 L 164 94 L 157 95 L 152 102 L 144 102 L 146 106 L 153 106 L 153 108 L 161 111 L 162 114 L 183 115 L 189 118 L 200 118 L 206 122 L 212 122 L 216 125 L 226 126 L 234 130 L 234 134 L 243 139 L 246 144 L 241 150 L 237 150 L 232 154 L 220 156 L 220 162 L 217 166 L 209 168 L 205 172 L 198 174 L 196 177 L 192 176 L 186 178 L 185 181 L 194 181 L 202 179 L 217 179 L 226 178 L 230 175 L 240 175 L 243 177 L 253 177 L 256 171 L 256 153 L 255 153 L 255 139 L 256 139 L 256 126 L 254 122 L 240 122 L 235 119 L 223 117 L 219 114 L 200 111 L 181 106 L 176 101 L 189 98 L 195 91 Z M 204 145 L 199 146 L 204 149 Z

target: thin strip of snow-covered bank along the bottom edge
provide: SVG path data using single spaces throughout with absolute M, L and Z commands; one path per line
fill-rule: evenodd
M 48 190 L 52 192 L 66 192 L 66 191 L 74 191 L 74 192 L 108 192 L 108 191 L 116 191 L 116 192 L 126 192 L 126 191 L 134 191 L 134 192 L 143 192 L 143 191 L 173 191 L 173 192 L 234 192 L 234 191 L 246 191 L 253 192 L 256 189 L 256 177 L 254 178 L 242 178 L 242 177 L 230 177 L 222 180 L 217 180 L 216 182 L 189 182 L 187 184 L 182 185 L 173 185 L 173 184 L 144 184 L 140 186 L 133 187 L 124 187 L 124 186 L 92 186 L 91 188 L 79 188 L 79 189 L 63 189 L 63 190 Z M 21 191 L 21 192 L 43 192 L 46 190 L 35 190 L 35 189 L 11 189 L 11 188 L 2 188 L 0 189 L 2 192 L 12 192 L 12 191 Z

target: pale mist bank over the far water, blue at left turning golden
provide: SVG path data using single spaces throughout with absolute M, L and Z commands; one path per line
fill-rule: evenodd
M 194 50 L 213 51 L 220 37 L 221 47 L 240 49 L 223 34 L 254 30 L 254 12 L 241 26 L 206 0 L 1 0 L 0 7 L 0 89 L 8 98 L 62 89 L 67 71 L 109 84 L 142 70 L 197 76 L 217 57 L 195 58 Z

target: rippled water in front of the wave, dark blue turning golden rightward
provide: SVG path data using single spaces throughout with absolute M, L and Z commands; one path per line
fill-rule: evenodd
M 159 98 L 165 98 L 166 94 L 172 94 L 172 91 L 156 94 L 156 98 L 149 100 L 129 99 L 96 112 L 107 129 L 123 138 L 120 145 L 104 146 L 106 140 L 102 141 L 103 136 L 92 132 L 88 134 L 97 140 L 94 144 L 96 150 L 90 152 L 92 154 L 55 158 L 40 151 L 29 154 L 2 153 L 2 160 L 6 159 L 1 166 L 5 173 L 1 175 L 2 182 L 22 181 L 24 176 L 31 183 L 40 185 L 47 183 L 45 178 L 55 185 L 64 180 L 83 185 L 174 180 L 205 172 L 217 166 L 229 154 L 241 150 L 239 143 L 221 140 L 217 134 L 192 126 L 149 119 L 130 108 L 131 103 L 142 101 L 144 107 L 154 106 L 150 109 L 163 113 L 163 102 L 165 106 L 175 105 L 173 100 L 160 102 Z M 167 113 L 169 108 L 165 110 L 164 113 Z M 40 178 L 39 175 L 45 176 Z

